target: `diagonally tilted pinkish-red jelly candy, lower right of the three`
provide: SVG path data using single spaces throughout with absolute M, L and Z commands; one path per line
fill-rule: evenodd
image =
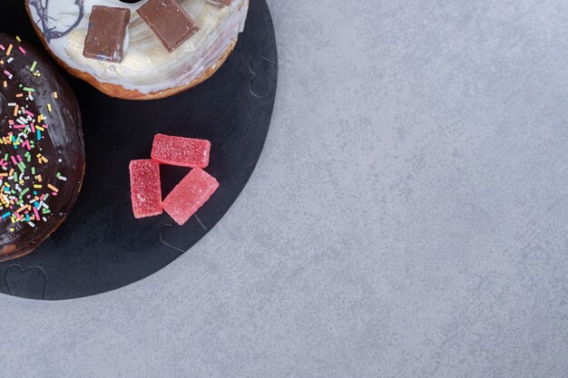
M 162 208 L 183 225 L 219 188 L 217 179 L 200 168 L 191 170 L 163 200 Z

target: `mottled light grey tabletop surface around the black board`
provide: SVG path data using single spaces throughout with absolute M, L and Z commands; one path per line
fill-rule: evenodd
M 240 199 L 135 285 L 1 296 L 0 376 L 568 376 L 568 3 L 269 5 Z

